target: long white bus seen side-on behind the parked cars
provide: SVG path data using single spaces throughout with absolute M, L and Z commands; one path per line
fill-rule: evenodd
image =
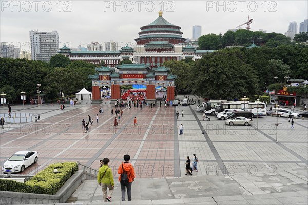
M 236 101 L 236 102 L 227 102 L 217 105 L 215 107 L 215 114 L 224 110 L 233 110 L 233 111 L 248 111 L 252 112 L 252 117 L 254 116 L 266 116 L 266 104 L 263 102 L 249 102 L 249 101 Z

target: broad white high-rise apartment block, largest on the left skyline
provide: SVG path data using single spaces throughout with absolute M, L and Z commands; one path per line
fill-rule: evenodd
M 59 51 L 57 31 L 30 31 L 31 59 L 49 62 L 51 56 Z

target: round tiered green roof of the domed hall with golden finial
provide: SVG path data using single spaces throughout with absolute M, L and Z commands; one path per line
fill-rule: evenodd
M 181 27 L 164 19 L 162 11 L 158 13 L 158 18 L 155 21 L 140 28 L 139 38 L 135 39 L 137 45 L 144 45 L 153 41 L 184 44 L 186 39 L 182 38 Z

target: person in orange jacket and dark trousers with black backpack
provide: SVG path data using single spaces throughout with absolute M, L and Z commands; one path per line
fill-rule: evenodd
M 122 201 L 125 201 L 125 189 L 127 189 L 127 199 L 131 201 L 131 184 L 135 179 L 134 168 L 131 163 L 129 163 L 130 156 L 128 154 L 124 155 L 124 162 L 121 163 L 118 169 L 119 181 L 121 183 L 121 194 Z

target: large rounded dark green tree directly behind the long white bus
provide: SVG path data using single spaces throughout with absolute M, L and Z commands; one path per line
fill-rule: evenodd
M 239 49 L 204 55 L 190 71 L 193 94 L 210 99 L 239 99 L 258 93 L 258 76 Z

